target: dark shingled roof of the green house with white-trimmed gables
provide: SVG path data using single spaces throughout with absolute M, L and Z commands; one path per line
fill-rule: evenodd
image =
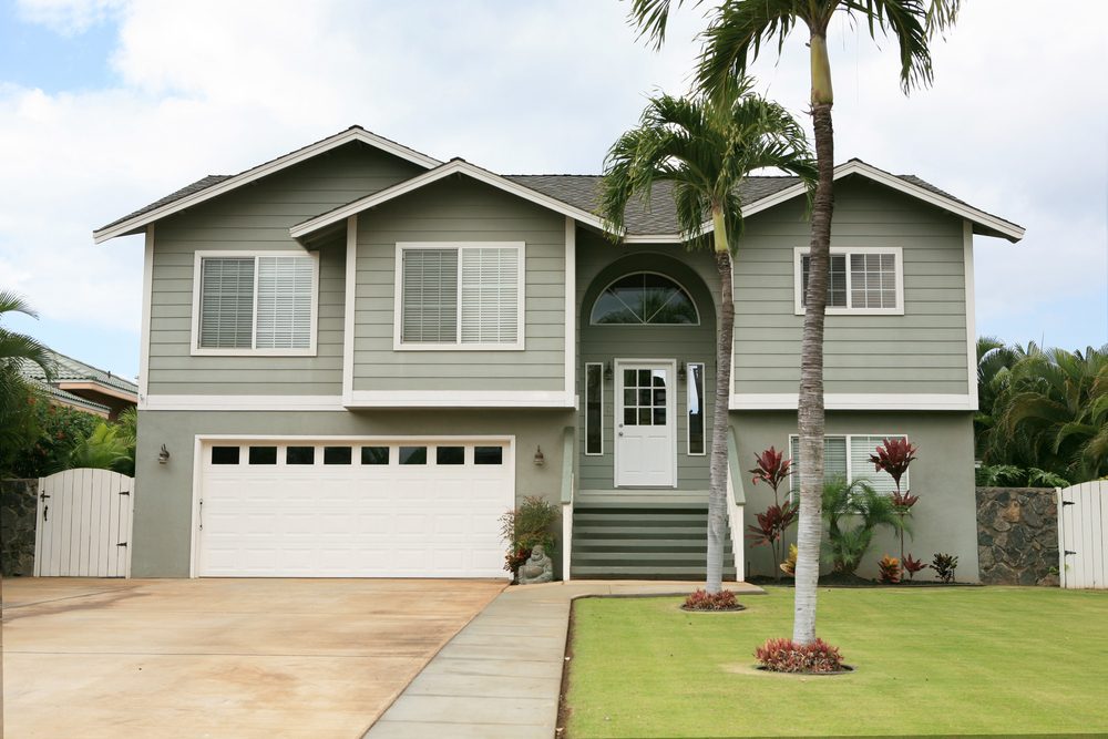
M 216 197 L 235 187 L 273 174 L 350 141 L 362 141 L 389 151 L 428 167 L 429 172 L 416 175 L 384 191 L 359 198 L 298 224 L 290 229 L 294 237 L 299 238 L 327 225 L 337 223 L 355 213 L 388 202 L 393 197 L 398 197 L 454 173 L 466 174 L 583 223 L 597 227 L 603 226 L 602 219 L 596 215 L 597 186 L 599 185 L 601 175 L 497 175 L 460 158 L 442 164 L 424 154 L 377 136 L 360 126 L 352 126 L 335 136 L 316 142 L 237 175 L 208 175 L 178 189 L 176 193 L 167 195 L 144 208 L 103 226 L 93 233 L 93 237 L 99 244 L 114 236 L 136 233 L 146 224 L 158 218 L 163 218 L 196 203 Z M 976 208 L 915 175 L 894 175 L 858 158 L 852 158 L 835 167 L 835 179 L 850 175 L 864 176 L 962 216 L 973 223 L 974 233 L 976 234 L 999 236 L 1010 242 L 1017 242 L 1024 236 L 1024 228 L 1022 226 Z M 798 177 L 748 177 L 740 185 L 739 196 L 743 204 L 742 215 L 753 215 L 803 193 L 804 186 Z M 656 185 L 649 206 L 640 199 L 629 203 L 625 216 L 625 236 L 628 240 L 679 240 L 673 186 L 669 183 L 659 183 Z M 705 224 L 705 228 L 710 228 L 710 223 Z

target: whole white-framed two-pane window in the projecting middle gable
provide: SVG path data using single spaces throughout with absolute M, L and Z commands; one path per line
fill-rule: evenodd
M 397 245 L 396 349 L 523 349 L 522 243 Z

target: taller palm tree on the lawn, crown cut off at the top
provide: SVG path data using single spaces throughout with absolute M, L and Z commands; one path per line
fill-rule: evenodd
M 704 0 L 689 0 L 702 4 Z M 660 45 L 674 0 L 633 0 L 632 20 L 640 32 Z M 676 0 L 678 6 L 684 0 Z M 800 397 L 797 408 L 800 432 L 800 520 L 797 526 L 796 608 L 793 639 L 815 640 L 815 586 L 819 581 L 820 494 L 823 486 L 823 317 L 831 249 L 831 215 L 834 205 L 834 134 L 831 106 L 831 61 L 828 29 L 835 13 L 861 19 L 870 37 L 891 34 L 900 48 L 901 88 L 932 81 L 929 41 L 936 31 L 953 25 L 961 0 L 722 0 L 709 13 L 697 82 L 704 90 L 726 85 L 732 75 L 745 75 L 763 43 L 777 42 L 780 53 L 786 38 L 803 23 L 809 32 L 811 61 L 811 115 L 815 133 L 819 183 L 811 214 L 811 271 L 807 286 L 803 339 L 800 359 Z

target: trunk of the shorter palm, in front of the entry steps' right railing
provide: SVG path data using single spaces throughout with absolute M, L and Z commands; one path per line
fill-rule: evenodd
M 712 211 L 716 229 L 716 268 L 719 270 L 720 315 L 716 345 L 716 397 L 711 419 L 711 462 L 708 483 L 708 577 L 705 589 L 724 588 L 724 541 L 727 531 L 727 427 L 731 400 L 731 351 L 735 336 L 735 300 L 731 252 L 721 209 Z M 691 379 L 691 378 L 690 378 Z

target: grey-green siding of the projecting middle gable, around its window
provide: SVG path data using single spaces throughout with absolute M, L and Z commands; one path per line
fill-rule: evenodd
M 398 242 L 523 242 L 523 351 L 396 351 Z M 358 218 L 355 390 L 565 387 L 565 219 L 468 178 L 429 185 Z

